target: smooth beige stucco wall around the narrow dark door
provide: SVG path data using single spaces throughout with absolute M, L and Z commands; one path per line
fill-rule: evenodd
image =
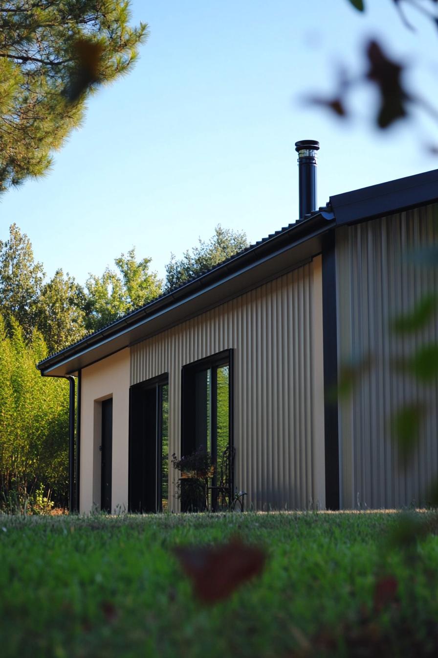
M 81 374 L 81 465 L 79 509 L 100 509 L 102 400 L 112 397 L 112 511 L 127 510 L 129 348 L 83 368 Z

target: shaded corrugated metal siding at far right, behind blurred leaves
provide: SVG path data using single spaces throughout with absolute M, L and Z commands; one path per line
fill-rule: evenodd
M 393 361 L 438 340 L 438 321 L 418 336 L 400 338 L 391 318 L 406 313 L 425 293 L 438 292 L 437 269 L 412 264 L 406 253 L 438 243 L 437 206 L 345 227 L 336 236 L 339 365 L 372 358 L 353 394 L 339 405 L 341 505 L 401 507 L 424 501 L 438 474 L 437 385 L 420 386 Z M 420 444 L 401 467 L 389 430 L 406 403 L 426 403 Z

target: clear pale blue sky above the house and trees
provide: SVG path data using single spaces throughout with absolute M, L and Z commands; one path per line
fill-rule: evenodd
M 46 178 L 0 200 L 0 239 L 16 222 L 49 276 L 62 267 L 83 283 L 133 245 L 164 276 L 171 252 L 219 222 L 255 241 L 295 221 L 297 139 L 320 141 L 320 205 L 438 167 L 422 148 L 438 142 L 437 126 L 422 116 L 382 134 L 367 120 L 368 92 L 349 122 L 301 101 L 330 93 L 337 63 L 361 70 L 370 36 L 408 57 L 418 88 L 437 88 L 436 29 L 410 13 L 411 34 L 392 0 L 368 0 L 364 16 L 347 0 L 132 5 L 150 38 L 131 74 L 91 99 Z

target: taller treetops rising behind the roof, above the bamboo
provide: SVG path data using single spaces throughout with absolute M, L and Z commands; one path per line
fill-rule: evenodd
M 151 270 L 151 259 L 137 259 L 133 247 L 114 259 L 114 268 L 106 267 L 100 275 L 89 274 L 81 286 L 62 268 L 47 280 L 42 263 L 33 257 L 28 236 L 12 224 L 9 239 L 0 240 L 0 313 L 7 331 L 12 332 L 12 319 L 27 341 L 37 330 L 49 353 L 54 353 L 181 286 L 247 245 L 246 234 L 218 225 L 210 240 L 199 240 L 181 259 L 171 256 L 164 281 Z

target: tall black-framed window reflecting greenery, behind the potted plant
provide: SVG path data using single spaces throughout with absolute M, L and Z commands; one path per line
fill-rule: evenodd
M 232 351 L 227 350 L 183 368 L 182 455 L 200 446 L 214 465 L 232 446 Z M 217 478 L 217 468 L 212 484 Z M 230 474 L 232 478 L 232 474 Z

